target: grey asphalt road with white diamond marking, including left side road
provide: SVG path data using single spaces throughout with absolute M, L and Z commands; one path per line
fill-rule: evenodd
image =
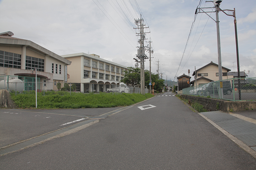
M 64 109 L 58 110 L 62 112 L 60 114 L 56 110 L 40 111 L 39 115 L 45 113 L 42 117 L 48 115 L 46 112 L 54 112 L 51 117 L 55 121 L 50 118 L 32 119 L 32 113 L 16 114 L 20 116 L 16 120 L 14 114 L 2 113 L 6 109 L 0 109 L 0 123 L 3 115 L 9 121 L 6 124 L 23 120 L 16 128 L 20 128 L 23 134 L 34 135 L 53 131 L 63 122 L 80 119 L 81 116 L 88 118 L 87 115 L 101 115 L 115 109 L 118 108 Z M 35 116 L 36 112 L 33 113 Z M 26 127 L 25 120 L 31 127 Z M 28 129 L 37 124 L 42 127 Z M 2 132 L 2 126 L 0 128 L 2 138 L 6 134 Z M 48 129 L 42 130 L 45 128 Z M 14 136 L 15 133 L 14 129 Z M 0 163 L 1 170 L 256 169 L 255 158 L 171 92 L 101 119 L 73 134 L 1 156 Z

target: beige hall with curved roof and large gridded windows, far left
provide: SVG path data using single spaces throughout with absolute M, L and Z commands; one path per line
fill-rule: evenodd
M 13 35 L 10 31 L 0 33 L 0 80 L 5 75 L 23 82 L 34 82 L 37 70 L 37 78 L 43 82 L 37 86 L 38 90 L 58 90 L 56 84 L 67 81 L 67 66 L 71 61 L 30 40 Z M 35 87 L 31 90 L 35 90 Z

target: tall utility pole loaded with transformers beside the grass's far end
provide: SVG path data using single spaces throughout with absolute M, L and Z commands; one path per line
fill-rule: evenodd
M 136 33 L 138 34 L 136 36 L 140 36 L 140 39 L 138 41 L 140 43 L 140 46 L 138 47 L 139 48 L 138 55 L 136 55 L 136 57 L 138 57 L 138 59 L 140 60 L 140 93 L 144 95 L 145 94 L 144 61 L 145 59 L 148 59 L 148 57 L 145 55 L 144 40 L 145 40 L 146 33 L 144 33 L 144 28 L 149 28 L 149 27 L 144 27 L 145 24 L 141 15 L 140 15 L 140 19 L 135 19 L 135 24 L 138 26 L 138 28 L 134 28 L 134 29 L 139 30 L 139 33 Z

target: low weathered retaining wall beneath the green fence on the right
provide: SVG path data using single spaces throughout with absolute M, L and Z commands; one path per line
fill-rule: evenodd
M 189 96 L 189 95 L 181 95 L 182 98 L 188 99 L 191 102 L 198 102 L 204 106 L 208 111 L 223 111 L 230 112 L 231 110 L 234 112 L 245 111 L 245 110 L 256 110 L 256 101 L 240 101 L 240 102 L 231 102 L 218 100 L 213 98 L 206 97 L 197 97 L 197 96 Z

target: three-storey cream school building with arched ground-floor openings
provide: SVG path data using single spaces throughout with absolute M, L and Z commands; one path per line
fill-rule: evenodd
M 80 92 L 105 92 L 116 87 L 124 78 L 124 70 L 128 70 L 95 54 L 75 53 L 62 57 L 72 62 L 68 66 L 69 81 L 76 83 Z

